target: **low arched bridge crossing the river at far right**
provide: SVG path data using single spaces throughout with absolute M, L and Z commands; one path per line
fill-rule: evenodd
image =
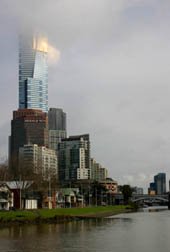
M 136 204 L 164 204 L 169 206 L 169 195 L 148 195 L 148 194 L 141 194 L 141 195 L 133 195 L 131 201 Z

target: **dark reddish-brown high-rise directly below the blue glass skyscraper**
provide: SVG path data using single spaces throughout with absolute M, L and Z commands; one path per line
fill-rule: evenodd
M 10 166 L 18 166 L 19 148 L 25 144 L 48 147 L 47 114 L 41 110 L 19 109 L 13 112 L 10 137 Z

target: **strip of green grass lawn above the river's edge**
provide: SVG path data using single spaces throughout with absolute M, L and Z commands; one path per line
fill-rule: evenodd
M 0 224 L 8 222 L 33 222 L 36 220 L 49 220 L 60 216 L 67 217 L 100 217 L 105 214 L 118 214 L 127 206 L 104 206 L 104 207 L 84 207 L 84 208 L 57 208 L 57 209 L 38 209 L 38 210 L 17 210 L 0 211 Z

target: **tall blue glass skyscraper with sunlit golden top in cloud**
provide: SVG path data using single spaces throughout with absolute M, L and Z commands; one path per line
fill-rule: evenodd
M 21 36 L 19 45 L 19 108 L 48 112 L 47 39 Z

